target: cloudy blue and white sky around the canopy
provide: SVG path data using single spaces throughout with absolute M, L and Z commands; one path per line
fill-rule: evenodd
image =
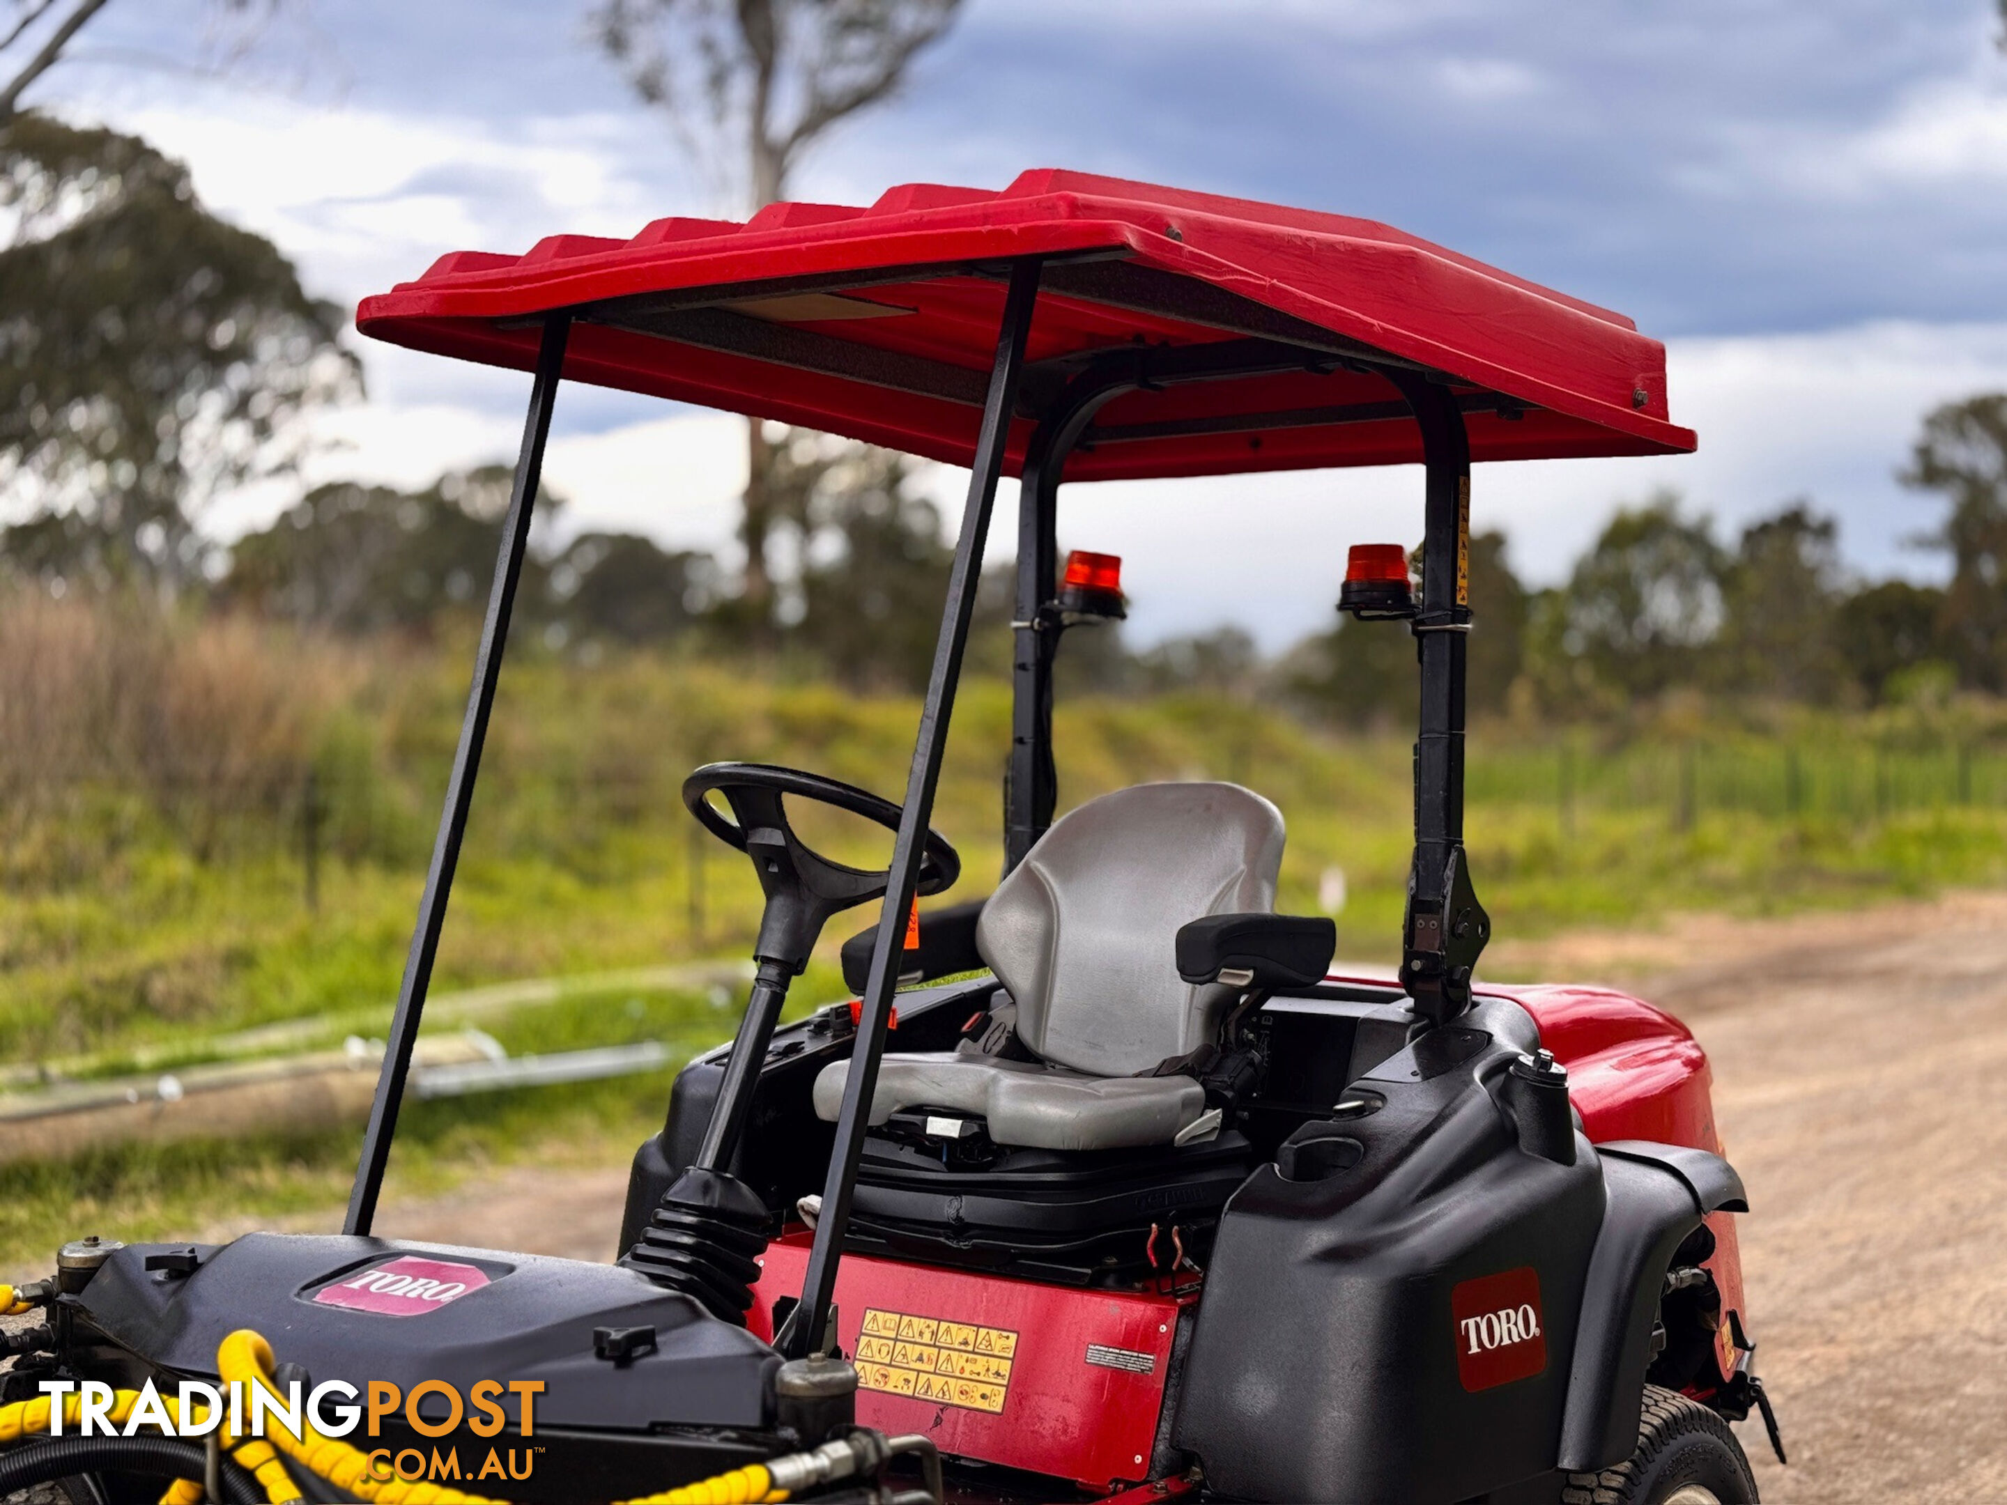
M 203 16 L 114 0 L 30 98 L 189 161 L 327 297 L 446 249 L 731 211 L 594 56 L 582 0 L 315 0 L 223 78 L 179 62 Z M 1929 576 L 1907 540 L 1937 508 L 1895 470 L 1933 403 L 2007 389 L 1999 28 L 1993 0 L 967 0 L 793 197 L 1078 167 L 1391 221 L 1668 341 L 1698 456 L 1479 470 L 1479 524 L 1531 580 L 1662 486 L 1730 526 L 1806 496 L 1858 570 Z M 327 474 L 514 449 L 522 377 L 363 355 Z M 731 421 L 578 389 L 558 423 L 572 526 L 729 552 Z M 1138 638 L 1238 620 L 1278 646 L 1329 620 L 1345 544 L 1419 532 L 1417 494 L 1411 472 L 1080 488 L 1062 530 L 1128 556 Z M 1222 560 L 1228 518 L 1252 548 Z

